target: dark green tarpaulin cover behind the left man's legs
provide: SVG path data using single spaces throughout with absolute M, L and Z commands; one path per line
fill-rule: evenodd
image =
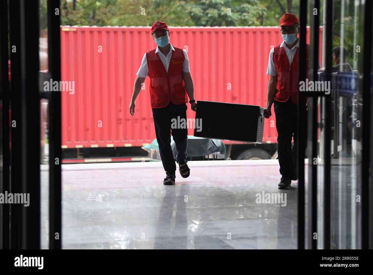
M 159 147 L 157 139 L 153 140 L 152 143 L 142 146 L 142 149 L 150 153 L 150 161 L 160 161 Z M 173 158 L 176 158 L 175 141 L 171 136 L 171 149 Z M 186 149 L 186 155 L 189 157 L 200 157 L 210 155 L 212 153 L 220 152 L 225 155 L 225 145 L 221 140 L 211 138 L 200 138 L 188 135 L 188 148 Z

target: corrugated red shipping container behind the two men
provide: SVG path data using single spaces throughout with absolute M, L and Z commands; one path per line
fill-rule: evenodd
M 188 52 L 197 101 L 266 106 L 269 51 L 282 42 L 278 27 L 170 27 L 170 42 Z M 156 138 L 149 78 L 135 116 L 129 114 L 142 56 L 155 46 L 150 27 L 61 27 L 61 78 L 75 85 L 62 92 L 63 148 L 143 146 Z M 276 142 L 272 107 L 263 143 Z

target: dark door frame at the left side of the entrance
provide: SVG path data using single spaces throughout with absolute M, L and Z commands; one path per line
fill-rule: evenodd
M 7 24 L 8 10 L 10 31 Z M 1 248 L 5 249 L 40 249 L 41 98 L 49 100 L 49 248 L 61 248 L 61 93 L 44 92 L 42 85 L 43 80 L 60 81 L 61 78 L 59 0 L 47 1 L 47 20 L 49 72 L 42 73 L 39 72 L 39 1 L 12 0 L 9 6 L 8 1 L 0 1 L 2 142 L 3 167 L 6 168 L 3 169 L 1 192 L 29 193 L 28 207 L 4 204 L 0 208 Z M 8 33 L 11 85 L 8 83 Z M 12 124 L 16 124 L 10 127 L 11 131 L 9 104 Z

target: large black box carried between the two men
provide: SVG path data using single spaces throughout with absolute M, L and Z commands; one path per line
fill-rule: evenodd
M 194 129 L 194 136 L 262 143 L 263 111 L 256 105 L 199 100 L 195 119 L 201 127 Z

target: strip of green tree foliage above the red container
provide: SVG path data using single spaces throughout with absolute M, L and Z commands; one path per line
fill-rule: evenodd
M 259 26 L 264 0 L 62 0 L 62 25 Z M 279 15 L 280 16 L 280 15 Z

